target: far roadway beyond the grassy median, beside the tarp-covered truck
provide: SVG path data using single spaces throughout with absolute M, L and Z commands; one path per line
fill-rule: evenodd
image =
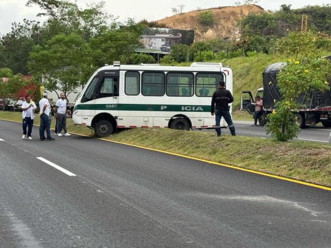
M 269 138 L 270 135 L 265 134 L 263 126 L 252 127 L 253 121 L 234 120 L 237 135 L 248 137 L 262 137 Z M 206 130 L 204 130 L 206 131 Z M 209 132 L 215 132 L 215 130 L 209 129 Z M 324 127 L 311 127 L 307 129 L 300 129 L 298 139 L 302 141 L 317 141 L 321 143 L 328 143 L 328 137 L 331 132 L 331 128 Z M 222 129 L 222 133 L 230 134 L 229 129 Z

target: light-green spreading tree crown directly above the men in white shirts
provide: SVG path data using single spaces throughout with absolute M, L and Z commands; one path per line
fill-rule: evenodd
M 90 65 L 88 51 L 86 42 L 79 35 L 59 34 L 44 46 L 33 47 L 28 67 L 32 75 L 45 79 L 47 90 L 62 91 L 67 99 L 67 95 L 84 82 L 84 70 Z

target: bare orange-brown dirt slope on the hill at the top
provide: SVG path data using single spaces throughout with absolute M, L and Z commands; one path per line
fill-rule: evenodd
M 211 11 L 214 16 L 212 26 L 204 26 L 199 23 L 199 14 L 203 11 Z M 190 11 L 181 15 L 175 15 L 156 21 L 164 23 L 168 28 L 190 29 L 195 31 L 195 41 L 208 38 L 237 38 L 239 36 L 239 21 L 250 13 L 265 12 L 257 5 L 243 5 L 236 7 L 219 7 L 199 11 Z

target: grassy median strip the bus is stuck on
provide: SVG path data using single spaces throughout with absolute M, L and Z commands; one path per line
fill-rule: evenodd
M 0 118 L 21 121 L 21 113 L 0 111 Z M 35 124 L 39 124 L 38 117 Z M 70 119 L 67 128 L 69 132 L 93 136 L 88 128 L 75 127 Z M 217 138 L 213 132 L 169 129 L 132 129 L 106 139 L 331 186 L 331 146 L 320 143 Z

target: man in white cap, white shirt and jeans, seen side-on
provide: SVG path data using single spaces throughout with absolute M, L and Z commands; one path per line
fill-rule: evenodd
M 39 107 L 40 107 L 40 127 L 39 127 L 39 137 L 40 137 L 40 141 L 45 140 L 45 135 L 44 135 L 44 130 L 46 130 L 46 134 L 47 134 L 47 140 L 51 141 L 54 140 L 54 138 L 52 138 L 50 136 L 50 104 L 49 101 L 47 99 L 48 95 L 47 93 L 43 93 L 42 94 L 42 99 L 39 101 Z

